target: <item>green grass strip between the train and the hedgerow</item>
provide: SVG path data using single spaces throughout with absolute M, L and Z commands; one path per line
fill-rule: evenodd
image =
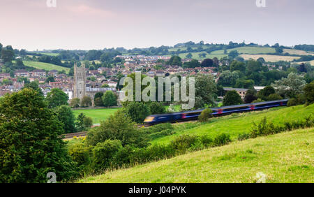
M 228 133 L 232 139 L 237 138 L 240 133 L 250 131 L 253 122 L 260 122 L 263 117 L 267 117 L 267 121 L 274 122 L 275 125 L 283 125 L 284 122 L 304 119 L 308 115 L 314 115 L 314 104 L 304 107 L 304 105 L 271 108 L 269 110 L 236 113 L 224 117 L 216 117 L 210 119 L 209 123 L 186 123 L 186 128 L 190 128 L 189 124 L 198 124 L 191 129 L 184 129 L 184 124 L 178 124 L 175 127 L 176 133 L 172 136 L 157 138 L 150 143 L 167 144 L 171 140 L 182 134 L 190 134 L 195 136 L 208 135 L 214 138 L 220 133 Z

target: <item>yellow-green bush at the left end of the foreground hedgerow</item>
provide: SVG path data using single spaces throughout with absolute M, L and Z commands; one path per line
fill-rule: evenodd
M 105 140 L 103 143 L 98 143 L 92 150 L 94 170 L 104 170 L 112 166 L 113 157 L 121 148 L 120 140 Z

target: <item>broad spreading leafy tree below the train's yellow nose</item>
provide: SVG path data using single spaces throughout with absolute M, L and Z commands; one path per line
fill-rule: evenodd
M 94 146 L 105 140 L 121 140 L 123 146 L 146 147 L 148 139 L 136 127 L 132 119 L 119 110 L 87 133 L 87 145 Z

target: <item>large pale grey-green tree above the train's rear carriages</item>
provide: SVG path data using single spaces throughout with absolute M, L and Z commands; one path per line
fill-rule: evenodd
M 282 96 L 293 98 L 297 94 L 303 93 L 303 88 L 306 85 L 304 77 L 297 73 L 290 73 L 287 78 L 277 80 L 272 84 L 276 92 Z

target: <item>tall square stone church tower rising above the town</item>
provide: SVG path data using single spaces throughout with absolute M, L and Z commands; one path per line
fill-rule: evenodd
M 74 95 L 73 98 L 82 99 L 86 95 L 85 64 L 77 67 L 74 64 Z

